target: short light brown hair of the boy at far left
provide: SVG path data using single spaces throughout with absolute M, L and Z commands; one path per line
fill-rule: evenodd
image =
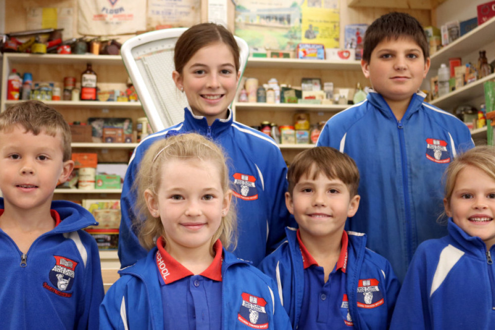
M 63 147 L 63 161 L 71 159 L 71 142 L 72 135 L 69 124 L 63 119 L 63 116 L 41 101 L 25 101 L 16 103 L 7 108 L 0 114 L 0 131 L 8 131 L 14 125 L 21 125 L 26 133 L 31 132 L 34 135 L 40 133 L 56 137 L 60 133 Z

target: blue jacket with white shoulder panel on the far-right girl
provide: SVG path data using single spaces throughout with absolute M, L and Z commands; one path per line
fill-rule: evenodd
M 495 328 L 495 245 L 487 250 L 451 218 L 447 228 L 418 246 L 390 329 Z

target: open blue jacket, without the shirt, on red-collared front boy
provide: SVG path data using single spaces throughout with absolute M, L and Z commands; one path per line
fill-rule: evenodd
M 277 281 L 284 308 L 289 314 L 293 329 L 297 329 L 304 292 L 304 266 L 297 230 L 287 228 L 286 233 L 287 239 L 261 262 L 259 268 Z M 347 232 L 347 235 L 346 290 L 354 329 L 386 329 L 392 318 L 399 282 L 390 263 L 366 248 L 364 234 Z M 381 295 L 384 303 L 375 308 L 358 307 L 357 302 L 363 298 L 363 293 L 359 292 L 359 283 L 369 279 L 378 280 L 378 291 L 373 293 L 375 297 Z M 335 303 L 342 301 L 336 300 Z

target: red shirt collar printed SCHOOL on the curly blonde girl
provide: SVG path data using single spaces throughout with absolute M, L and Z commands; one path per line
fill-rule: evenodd
M 158 251 L 156 251 L 155 261 L 158 271 L 165 284 L 170 284 L 175 281 L 181 280 L 185 277 L 194 275 L 189 269 L 182 266 L 177 260 L 175 260 L 163 247 L 163 237 L 159 237 L 156 241 Z M 206 268 L 201 274 L 213 281 L 222 281 L 222 242 L 218 239 L 213 245 L 215 251 L 215 257 L 213 262 Z

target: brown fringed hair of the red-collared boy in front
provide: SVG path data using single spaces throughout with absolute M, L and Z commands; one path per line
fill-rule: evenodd
M 289 167 L 287 180 L 291 196 L 301 177 L 312 176 L 316 179 L 319 173 L 325 174 L 329 179 L 341 180 L 351 197 L 357 195 L 359 170 L 354 160 L 335 148 L 317 146 L 298 153 Z

